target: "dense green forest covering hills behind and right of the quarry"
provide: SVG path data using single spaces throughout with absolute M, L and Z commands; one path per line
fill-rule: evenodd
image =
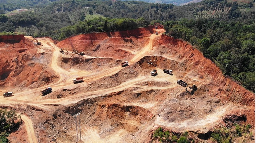
M 67 37 L 122 31 L 158 22 L 167 35 L 190 42 L 223 74 L 255 92 L 255 1 L 204 0 L 183 6 L 143 1 L 3 0 L 0 9 L 28 11 L 0 15 L 0 32 L 33 37 Z

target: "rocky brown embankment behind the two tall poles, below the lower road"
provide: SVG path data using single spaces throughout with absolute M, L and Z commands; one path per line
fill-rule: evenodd
M 122 92 L 103 95 L 102 97 L 83 99 L 69 106 L 55 106 L 53 113 L 41 112 L 35 122 L 36 130 L 41 133 L 40 141 L 46 142 L 56 138 L 58 142 L 76 142 L 76 115 L 80 113 L 81 133 L 83 142 L 111 142 L 117 139 L 136 142 L 142 128 L 154 120 L 154 115 L 147 109 L 134 105 L 118 104 L 125 98 Z M 127 92 L 131 93 L 131 91 Z M 133 97 L 135 98 L 135 97 Z M 47 120 L 41 121 L 40 117 Z M 78 116 L 77 116 L 77 123 Z M 78 132 L 80 131 L 79 126 Z M 145 140 L 145 139 L 143 139 Z M 113 140 L 113 142 L 116 142 Z

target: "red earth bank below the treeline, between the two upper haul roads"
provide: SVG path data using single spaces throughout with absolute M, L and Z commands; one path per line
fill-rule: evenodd
M 92 51 L 97 52 L 95 54 L 100 55 L 111 55 L 113 52 L 119 52 L 121 56 L 129 57 L 126 51 L 120 51 L 122 49 L 118 48 L 117 46 L 121 45 L 125 49 L 133 50 L 135 46 L 138 48 L 139 45 L 143 45 L 143 43 L 141 43 L 142 41 L 139 38 L 142 38 L 152 33 L 154 33 L 152 27 L 140 28 L 129 31 L 88 33 L 67 38 L 59 42 L 57 45 L 70 51 L 72 51 L 73 49 L 84 51 L 87 53 L 87 55 Z M 102 51 L 101 49 L 104 49 L 104 51 Z M 106 52 L 106 50 L 108 52 Z M 120 56 L 116 57 L 116 59 L 119 58 Z

